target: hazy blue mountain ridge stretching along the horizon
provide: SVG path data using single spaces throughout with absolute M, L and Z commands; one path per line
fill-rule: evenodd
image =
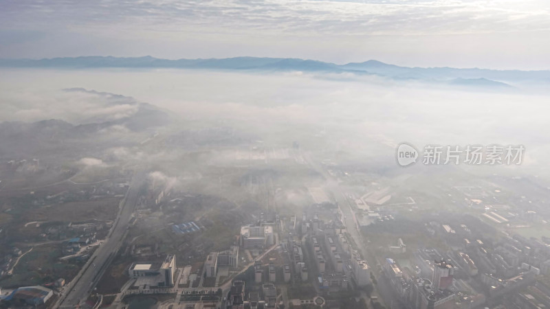
M 303 60 L 299 58 L 210 58 L 168 60 L 151 56 L 121 58 L 113 56 L 81 56 L 50 59 L 0 59 L 0 67 L 45 67 L 45 68 L 173 68 L 217 69 L 239 71 L 305 71 L 328 73 L 355 73 L 376 75 L 398 80 L 428 80 L 449 84 L 470 85 L 481 83 L 485 87 L 503 86 L 505 82 L 539 81 L 550 82 L 550 71 L 520 71 L 493 69 L 457 69 L 452 67 L 400 67 L 377 60 L 350 62 L 337 65 L 331 62 Z M 494 82 L 494 83 L 492 83 Z

